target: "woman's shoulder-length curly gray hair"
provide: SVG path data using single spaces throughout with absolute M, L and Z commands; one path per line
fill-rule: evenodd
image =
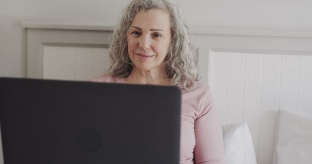
M 170 16 L 172 39 L 164 62 L 167 80 L 171 85 L 181 82 L 183 88 L 189 90 L 193 82 L 199 80 L 198 52 L 189 42 L 188 27 L 183 23 L 178 7 L 168 0 L 132 0 L 123 10 L 109 49 L 111 66 L 108 73 L 120 78 L 130 75 L 133 64 L 128 54 L 127 33 L 137 12 L 151 9 L 161 9 Z

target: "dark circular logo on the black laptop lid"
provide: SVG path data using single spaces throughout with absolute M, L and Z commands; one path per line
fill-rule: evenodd
M 84 151 L 97 151 L 102 145 L 101 135 L 93 129 L 81 130 L 77 136 L 77 144 Z

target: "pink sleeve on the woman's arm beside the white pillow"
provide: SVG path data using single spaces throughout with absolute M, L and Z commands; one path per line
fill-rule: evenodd
M 195 120 L 195 164 L 223 164 L 222 127 L 210 89 L 207 90 Z

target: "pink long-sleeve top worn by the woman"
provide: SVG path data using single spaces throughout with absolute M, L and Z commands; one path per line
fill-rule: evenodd
M 126 83 L 123 78 L 101 76 L 92 82 Z M 194 82 L 182 87 L 180 164 L 223 164 L 222 129 L 209 87 Z

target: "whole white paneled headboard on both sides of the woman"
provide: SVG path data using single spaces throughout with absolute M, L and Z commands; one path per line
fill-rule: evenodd
M 28 77 L 88 80 L 109 67 L 113 27 L 36 22 L 22 26 L 27 29 Z M 199 49 L 201 82 L 211 87 L 221 122 L 247 122 L 258 164 L 272 164 L 278 109 L 312 115 L 312 33 L 190 32 Z

